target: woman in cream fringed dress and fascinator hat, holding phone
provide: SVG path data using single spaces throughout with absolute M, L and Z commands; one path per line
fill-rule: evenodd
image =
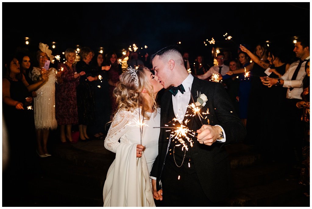
M 63 81 L 61 71 L 57 71 L 55 68 L 44 69 L 45 61 L 51 60 L 53 63 L 54 59 L 49 46 L 39 43 L 39 49 L 37 51 L 38 66 L 33 67 L 29 76 L 34 82 L 42 80 L 42 75 L 48 77 L 37 89 L 37 97 L 34 99 L 37 153 L 39 157 L 44 158 L 51 156 L 47 150 L 49 131 L 57 128 L 55 119 L 55 82 L 61 84 Z

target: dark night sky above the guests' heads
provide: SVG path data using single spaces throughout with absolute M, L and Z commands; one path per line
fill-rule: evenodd
M 17 46 L 38 50 L 43 42 L 53 54 L 61 54 L 76 45 L 89 46 L 104 53 L 135 43 L 138 50 L 152 54 L 163 46 L 181 41 L 191 59 L 211 56 L 212 45 L 236 52 L 239 44 L 251 50 L 257 43 L 282 41 L 292 52 L 294 36 L 310 33 L 310 2 L 217 2 L 217 3 L 2 3 L 3 50 Z M 13 18 L 14 17 L 14 18 Z M 228 33 L 233 41 L 226 41 Z M 30 44 L 25 45 L 25 37 Z M 236 55 L 233 54 L 235 57 Z

